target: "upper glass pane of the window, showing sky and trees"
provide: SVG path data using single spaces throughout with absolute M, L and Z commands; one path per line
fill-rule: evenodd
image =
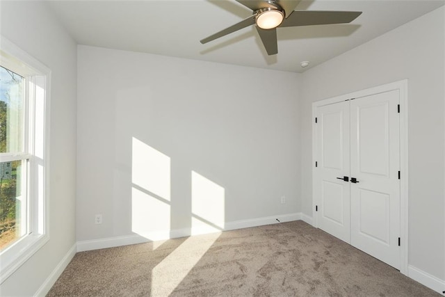
M 0 66 L 0 152 L 23 151 L 24 78 Z

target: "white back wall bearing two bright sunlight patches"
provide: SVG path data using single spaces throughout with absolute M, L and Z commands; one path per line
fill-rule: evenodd
M 190 231 L 192 171 L 217 227 L 300 211 L 299 75 L 79 46 L 77 240 Z

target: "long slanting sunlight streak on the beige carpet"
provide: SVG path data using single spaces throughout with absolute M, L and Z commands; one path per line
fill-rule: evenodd
M 181 246 L 165 257 L 152 269 L 151 296 L 170 296 L 219 236 L 220 232 L 209 234 L 205 238 L 188 237 Z

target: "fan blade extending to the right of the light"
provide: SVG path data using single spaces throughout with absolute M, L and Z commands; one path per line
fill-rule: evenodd
M 295 10 L 284 19 L 280 27 L 345 24 L 353 22 L 361 14 L 361 11 Z

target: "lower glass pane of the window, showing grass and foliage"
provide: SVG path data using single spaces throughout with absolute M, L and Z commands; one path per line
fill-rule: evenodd
M 26 233 L 26 195 L 22 191 L 25 162 L 0 163 L 0 250 Z

